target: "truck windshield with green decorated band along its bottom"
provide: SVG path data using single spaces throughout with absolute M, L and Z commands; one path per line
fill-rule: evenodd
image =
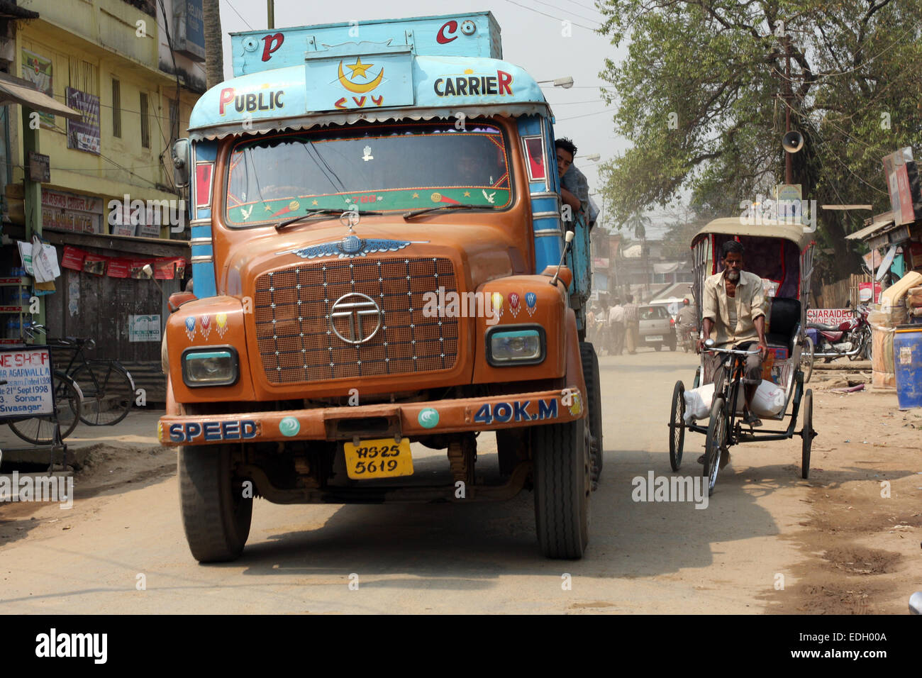
M 290 219 L 317 208 L 405 211 L 512 202 L 502 130 L 467 122 L 368 125 L 248 139 L 231 151 L 231 226 Z

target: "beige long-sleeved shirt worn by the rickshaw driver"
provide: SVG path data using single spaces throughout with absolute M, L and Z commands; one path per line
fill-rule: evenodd
M 727 286 L 724 284 L 725 273 L 726 269 L 704 280 L 702 318 L 711 318 L 714 321 L 711 339 L 714 339 L 717 346 L 758 340 L 755 319 L 765 315 L 762 279 L 755 273 L 740 271 L 736 296 L 728 297 Z M 728 327 L 729 303 L 736 304 L 737 327 Z

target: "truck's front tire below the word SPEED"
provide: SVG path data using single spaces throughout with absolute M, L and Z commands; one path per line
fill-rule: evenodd
M 236 560 L 250 535 L 253 497 L 234 482 L 228 446 L 182 446 L 180 507 L 189 550 L 199 563 Z M 251 493 L 252 494 L 252 493 Z

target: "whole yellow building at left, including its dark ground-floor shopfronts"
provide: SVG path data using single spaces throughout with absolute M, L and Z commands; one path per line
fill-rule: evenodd
M 27 7 L 38 17 L 24 18 Z M 27 7 L 9 18 L 0 12 L 0 72 L 29 80 L 82 117 L 35 113 L 23 120 L 18 105 L 3 107 L 8 209 L 0 279 L 21 275 L 11 242 L 28 238 L 24 218 L 10 206 L 17 198 L 21 206 L 27 172 L 41 181 L 41 235 L 55 246 L 62 275 L 42 296 L 39 315 L 20 315 L 19 325 L 0 316 L 0 337 L 16 339 L 23 324 L 44 318 L 52 337 L 91 337 L 97 357 L 159 373 L 169 310 L 155 281 L 139 279 L 138 271 L 156 264 L 166 293 L 180 289 L 183 268 L 188 275 L 188 267 L 170 263 L 189 258 L 171 146 L 185 136 L 205 91 L 202 0 L 30 0 Z M 35 179 L 33 168 L 44 164 L 40 156 L 30 164 L 22 125 L 39 125 L 47 178 Z M 41 294 L 0 291 L 0 305 Z M 12 302 L 10 292 L 18 295 Z

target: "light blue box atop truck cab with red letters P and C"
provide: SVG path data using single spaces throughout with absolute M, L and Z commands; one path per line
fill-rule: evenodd
M 474 56 L 502 59 L 500 26 L 491 12 L 450 14 L 439 17 L 349 21 L 277 30 L 231 33 L 233 74 L 304 65 L 311 54 L 331 48 L 348 51 L 346 43 L 379 43 L 381 47 L 409 47 L 425 56 Z M 367 46 L 366 46 L 367 48 Z

